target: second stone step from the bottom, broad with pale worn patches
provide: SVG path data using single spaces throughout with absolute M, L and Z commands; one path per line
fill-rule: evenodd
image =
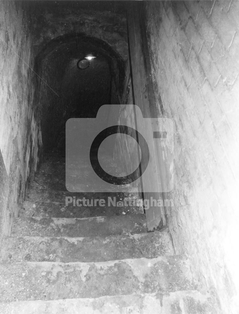
M 0 302 L 96 298 L 194 288 L 185 256 L 99 263 L 0 264 Z

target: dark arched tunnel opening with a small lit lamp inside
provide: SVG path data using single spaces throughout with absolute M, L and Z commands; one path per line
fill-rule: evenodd
M 79 68 L 78 61 L 90 55 L 95 58 L 89 66 Z M 95 118 L 100 106 L 117 104 L 122 96 L 124 60 L 105 41 L 84 34 L 64 35 L 47 43 L 36 57 L 35 72 L 41 73 L 36 94 L 44 152 L 65 152 L 69 118 Z

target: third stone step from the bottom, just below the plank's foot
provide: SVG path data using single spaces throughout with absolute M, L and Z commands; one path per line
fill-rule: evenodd
M 107 237 L 6 237 L 1 260 L 11 262 L 103 262 L 174 255 L 168 230 Z

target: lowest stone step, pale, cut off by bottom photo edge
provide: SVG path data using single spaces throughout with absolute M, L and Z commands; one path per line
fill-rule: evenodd
M 212 295 L 195 290 L 98 298 L 0 303 L 2 314 L 219 314 Z

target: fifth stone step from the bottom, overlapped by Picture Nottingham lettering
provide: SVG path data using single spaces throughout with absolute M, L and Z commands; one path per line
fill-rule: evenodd
M 80 204 L 82 205 L 82 204 Z M 84 218 L 96 216 L 111 216 L 122 214 L 143 214 L 143 207 L 137 206 L 117 207 L 117 206 L 73 206 L 73 204 L 65 205 L 65 202 L 30 202 L 25 201 L 21 208 L 20 217 L 58 217 L 58 218 Z

